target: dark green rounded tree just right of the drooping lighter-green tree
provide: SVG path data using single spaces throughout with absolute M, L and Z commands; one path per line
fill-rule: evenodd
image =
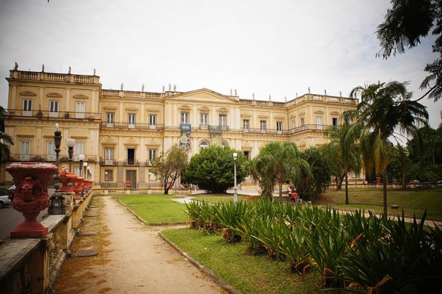
M 296 190 L 305 200 L 315 199 L 332 182 L 332 165 L 318 147 L 310 146 L 302 150 L 300 157 L 308 164 L 301 166 L 301 177 L 295 182 Z

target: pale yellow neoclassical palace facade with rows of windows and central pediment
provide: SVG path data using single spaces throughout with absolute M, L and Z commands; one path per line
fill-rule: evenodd
M 6 133 L 13 161 L 55 161 L 55 124 L 60 161 L 68 166 L 66 139 L 75 139 L 73 170 L 79 156 L 95 184 L 157 186 L 149 171 L 154 157 L 180 144 L 189 155 L 221 144 L 253 158 L 269 141 L 294 141 L 300 149 L 328 141 L 327 126 L 339 124 L 357 99 L 305 94 L 286 102 L 240 99 L 206 88 L 189 92 L 106 90 L 96 75 L 10 70 Z M 143 87 L 144 88 L 144 87 Z M 174 87 L 175 88 L 175 87 Z M 82 167 L 83 170 L 84 167 Z M 84 174 L 84 171 L 83 171 Z

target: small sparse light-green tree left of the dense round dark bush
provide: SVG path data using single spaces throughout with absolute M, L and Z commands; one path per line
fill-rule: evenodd
M 184 175 L 188 165 L 188 155 L 186 150 L 178 146 L 172 146 L 166 153 L 152 162 L 152 172 L 163 182 L 164 194 L 169 194 L 169 189 L 173 187 L 175 181 Z

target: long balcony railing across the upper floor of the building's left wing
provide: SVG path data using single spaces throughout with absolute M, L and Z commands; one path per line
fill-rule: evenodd
M 75 112 L 75 111 L 48 111 L 48 110 L 21 110 L 8 109 L 8 117 L 33 117 L 37 119 L 81 119 L 87 121 L 99 121 L 99 112 Z

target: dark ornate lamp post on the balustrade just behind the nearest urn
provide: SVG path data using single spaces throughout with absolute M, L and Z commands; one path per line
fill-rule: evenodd
M 55 124 L 55 128 L 56 128 L 54 132 L 55 165 L 57 166 L 57 171 L 55 172 L 55 177 L 54 177 L 55 193 L 50 197 L 50 203 L 48 206 L 48 215 L 65 215 L 66 205 L 64 204 L 64 197 L 63 195 L 61 195 L 59 191 L 59 188 L 61 186 L 60 174 L 58 171 L 60 144 L 61 144 L 61 131 L 59 130 L 59 124 Z

